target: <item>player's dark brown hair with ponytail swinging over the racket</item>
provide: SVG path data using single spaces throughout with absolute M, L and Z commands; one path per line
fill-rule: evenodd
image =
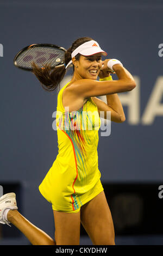
M 76 41 L 73 42 L 72 46 L 68 48 L 68 50 L 65 52 L 65 65 L 68 64 L 71 60 L 71 53 L 80 45 L 84 44 L 84 42 L 88 42 L 93 40 L 89 37 L 83 37 L 79 38 Z M 76 55 L 76 59 L 79 60 L 80 53 Z M 49 64 L 43 65 L 43 68 L 39 68 L 34 62 L 32 63 L 33 73 L 38 78 L 38 80 L 41 83 L 41 86 L 43 89 L 45 89 L 48 92 L 51 92 L 52 90 L 55 90 L 58 86 L 58 84 L 61 82 L 62 78 L 64 78 L 66 74 L 66 69 L 64 65 L 55 67 L 54 69 L 50 68 Z M 74 70 L 74 66 L 73 66 Z

